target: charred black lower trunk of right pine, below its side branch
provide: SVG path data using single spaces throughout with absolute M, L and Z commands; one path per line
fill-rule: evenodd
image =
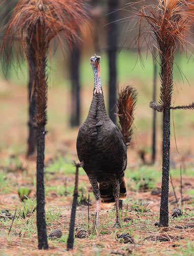
M 161 201 L 159 226 L 169 226 L 169 167 L 170 167 L 170 109 L 163 111 L 163 179 L 161 183 Z

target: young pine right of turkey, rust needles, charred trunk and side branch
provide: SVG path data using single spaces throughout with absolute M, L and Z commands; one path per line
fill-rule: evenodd
M 170 109 L 173 93 L 174 53 L 177 48 L 186 49 L 187 36 L 193 21 L 194 1 L 158 0 L 157 5 L 141 3 L 140 9 L 132 5 L 134 16 L 138 16 L 139 34 L 135 42 L 141 56 L 141 40 L 151 49 L 150 39 L 157 44 L 160 58 L 160 97 L 159 104 L 151 102 L 150 107 L 163 112 L 163 179 L 161 185 L 160 227 L 168 227 L 168 194 L 170 166 Z M 173 109 L 193 109 L 193 105 L 179 106 Z

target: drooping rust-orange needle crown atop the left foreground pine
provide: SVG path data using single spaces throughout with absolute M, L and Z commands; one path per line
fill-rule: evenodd
M 54 37 L 60 46 L 64 42 L 72 45 L 78 38 L 72 23 L 80 27 L 87 17 L 83 0 L 19 0 L 10 21 L 2 28 L 5 33 L 0 54 L 4 65 L 10 63 L 13 49 L 17 52 L 17 60 L 27 55 L 26 40 L 33 42 L 33 37 L 37 37 L 38 47 L 38 30 L 44 30 L 41 40 L 45 40 L 46 47 Z

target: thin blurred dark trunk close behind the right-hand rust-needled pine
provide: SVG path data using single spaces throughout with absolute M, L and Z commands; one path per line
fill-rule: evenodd
M 156 49 L 153 47 L 153 101 L 156 101 L 156 80 L 157 80 L 157 63 L 156 63 Z M 156 141 L 156 111 L 153 110 L 153 124 L 152 124 L 152 164 L 155 163 L 155 141 Z

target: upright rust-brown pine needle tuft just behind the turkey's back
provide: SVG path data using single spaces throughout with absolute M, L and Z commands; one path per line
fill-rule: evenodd
M 118 93 L 117 114 L 118 127 L 121 131 L 126 148 L 130 145 L 133 134 L 134 109 L 137 102 L 137 91 L 132 86 L 126 86 Z

